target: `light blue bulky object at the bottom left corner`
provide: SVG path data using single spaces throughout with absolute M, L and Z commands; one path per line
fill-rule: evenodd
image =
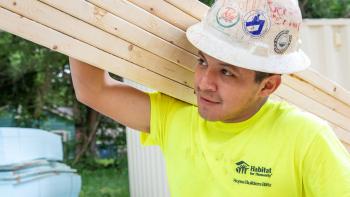
M 39 129 L 0 128 L 1 197 L 77 197 L 81 177 L 63 160 L 61 137 Z

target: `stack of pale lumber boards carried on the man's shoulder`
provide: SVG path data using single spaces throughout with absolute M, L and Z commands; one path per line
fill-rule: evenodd
M 195 104 L 197 0 L 0 0 L 0 29 Z M 329 121 L 350 151 L 350 92 L 308 69 L 273 95 Z

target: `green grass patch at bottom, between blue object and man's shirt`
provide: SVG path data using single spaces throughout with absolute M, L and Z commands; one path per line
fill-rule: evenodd
M 99 163 L 109 163 L 100 161 Z M 129 197 L 127 165 L 120 168 L 80 169 L 82 188 L 80 197 Z

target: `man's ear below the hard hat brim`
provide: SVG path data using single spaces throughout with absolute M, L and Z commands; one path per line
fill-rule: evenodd
M 281 75 L 271 75 L 265 78 L 260 84 L 260 93 L 261 97 L 266 97 L 271 95 L 275 90 L 281 85 L 282 79 Z

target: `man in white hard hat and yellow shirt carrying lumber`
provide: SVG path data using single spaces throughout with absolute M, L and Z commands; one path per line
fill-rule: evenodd
M 70 59 L 77 98 L 160 146 L 172 196 L 350 196 L 350 156 L 328 124 L 268 97 L 307 68 L 294 0 L 218 0 L 187 31 L 198 107 Z

